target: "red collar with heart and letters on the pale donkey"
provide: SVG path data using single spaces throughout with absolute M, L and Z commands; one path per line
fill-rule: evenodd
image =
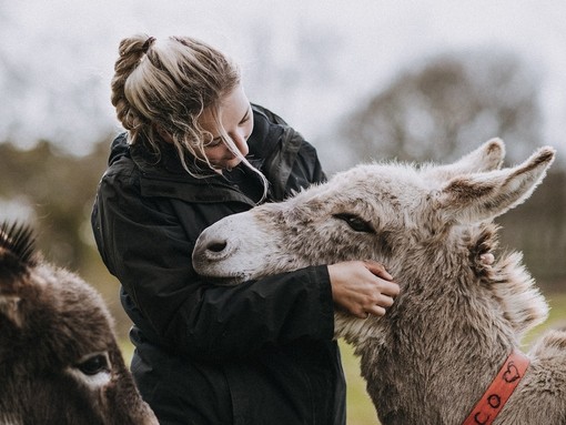
M 515 348 L 463 425 L 492 424 L 525 376 L 529 364 L 528 357 Z

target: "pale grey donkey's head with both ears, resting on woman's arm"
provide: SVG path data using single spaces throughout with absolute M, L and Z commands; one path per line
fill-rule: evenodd
M 358 165 L 283 203 L 213 224 L 196 242 L 194 267 L 225 283 L 340 260 L 373 259 L 391 269 L 415 244 L 523 202 L 554 151 L 540 149 L 522 165 L 498 170 L 503 155 L 494 139 L 451 165 Z

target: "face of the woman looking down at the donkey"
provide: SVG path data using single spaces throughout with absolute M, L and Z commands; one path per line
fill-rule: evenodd
M 253 130 L 253 113 L 242 84 L 239 84 L 221 100 L 219 120 L 237 150 L 245 156 L 250 152 L 247 138 Z M 204 146 L 204 154 L 211 164 L 218 170 L 236 166 L 241 159 L 235 156 L 222 141 L 220 129 L 218 129 L 209 109 L 203 111 L 199 123 L 213 136 L 212 142 Z

